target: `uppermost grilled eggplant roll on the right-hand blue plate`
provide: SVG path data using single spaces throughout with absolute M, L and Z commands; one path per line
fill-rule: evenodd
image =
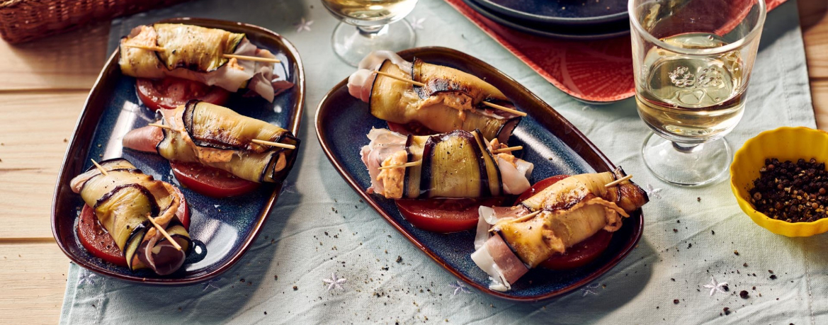
M 418 122 L 436 132 L 480 130 L 486 139 L 506 142 L 520 122 L 509 112 L 495 111 L 483 102 L 513 108 L 512 102 L 493 85 L 458 69 L 431 65 L 415 59 L 402 60 L 388 51 L 373 52 L 349 77 L 349 93 L 367 102 L 373 116 L 388 122 Z M 413 79 L 415 86 L 373 70 Z

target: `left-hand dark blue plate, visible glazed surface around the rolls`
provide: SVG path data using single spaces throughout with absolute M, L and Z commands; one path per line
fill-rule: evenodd
M 162 22 L 221 28 L 246 33 L 253 44 L 263 47 L 282 60 L 274 73 L 296 84 L 277 95 L 273 103 L 262 98 L 242 98 L 236 93 L 227 106 L 240 114 L 255 117 L 299 134 L 305 104 L 305 71 L 299 53 L 289 41 L 259 26 L 209 19 L 176 18 Z M 209 280 L 228 270 L 248 250 L 258 235 L 267 215 L 276 203 L 282 184 L 263 184 L 250 194 L 234 198 L 209 198 L 190 189 L 181 188 L 190 205 L 190 252 L 181 270 L 159 276 L 151 270 L 132 272 L 95 258 L 80 245 L 75 234 L 77 216 L 84 202 L 72 192 L 70 179 L 92 165 L 90 159 L 106 160 L 123 157 L 155 179 L 177 184 L 169 162 L 160 155 L 123 150 L 121 139 L 128 131 L 147 125 L 155 113 L 141 105 L 135 92 L 135 79 L 121 74 L 118 50 L 115 50 L 95 82 L 84 111 L 80 114 L 75 134 L 66 151 L 57 179 L 52 203 L 52 232 L 60 248 L 70 260 L 101 275 L 149 284 L 192 284 Z

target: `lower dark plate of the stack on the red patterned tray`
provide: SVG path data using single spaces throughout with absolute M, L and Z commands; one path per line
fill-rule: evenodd
M 629 34 L 628 20 L 615 22 L 595 23 L 593 25 L 575 24 L 544 24 L 539 22 L 526 21 L 519 18 L 507 17 L 499 12 L 494 12 L 487 7 L 481 6 L 476 0 L 462 0 L 475 12 L 489 18 L 500 25 L 508 26 L 517 31 L 523 31 L 532 35 L 553 37 L 566 40 L 603 40 L 605 38 L 623 36 Z M 626 15 L 626 13 L 625 13 Z

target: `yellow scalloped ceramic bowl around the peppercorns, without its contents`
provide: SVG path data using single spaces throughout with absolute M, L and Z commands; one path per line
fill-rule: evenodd
M 828 218 L 815 222 L 784 222 L 753 208 L 748 190 L 753 189 L 753 179 L 759 178 L 759 169 L 765 165 L 766 158 L 780 161 L 815 158 L 828 163 L 828 132 L 807 127 L 780 127 L 763 131 L 744 142 L 730 165 L 730 189 L 739 207 L 753 222 L 787 237 L 808 237 L 828 232 Z

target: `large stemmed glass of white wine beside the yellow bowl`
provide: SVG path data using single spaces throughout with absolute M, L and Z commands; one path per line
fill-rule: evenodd
M 764 0 L 630 0 L 638 115 L 652 129 L 645 165 L 672 184 L 720 179 L 733 159 Z

